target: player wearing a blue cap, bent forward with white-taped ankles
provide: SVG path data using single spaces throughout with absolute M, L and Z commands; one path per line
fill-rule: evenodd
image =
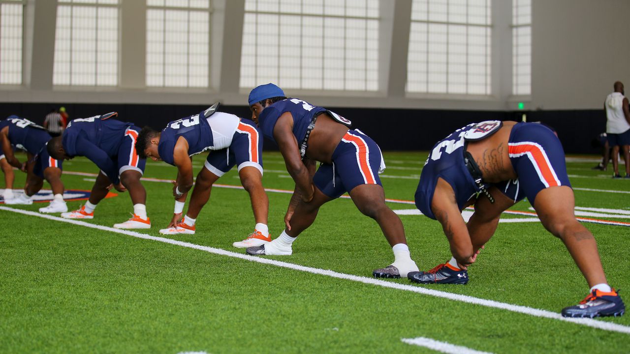
M 286 229 L 249 254 L 292 254 L 295 238 L 314 222 L 319 207 L 348 192 L 357 208 L 376 220 L 394 251 L 395 261 L 374 271 L 374 277 L 406 277 L 417 271 L 411 260 L 403 223 L 385 204 L 379 172 L 385 168 L 379 146 L 336 113 L 295 98 L 286 98 L 274 84 L 249 93 L 252 119 L 263 135 L 277 142 L 287 171 L 295 181 Z M 322 165 L 315 171 L 316 161 Z

